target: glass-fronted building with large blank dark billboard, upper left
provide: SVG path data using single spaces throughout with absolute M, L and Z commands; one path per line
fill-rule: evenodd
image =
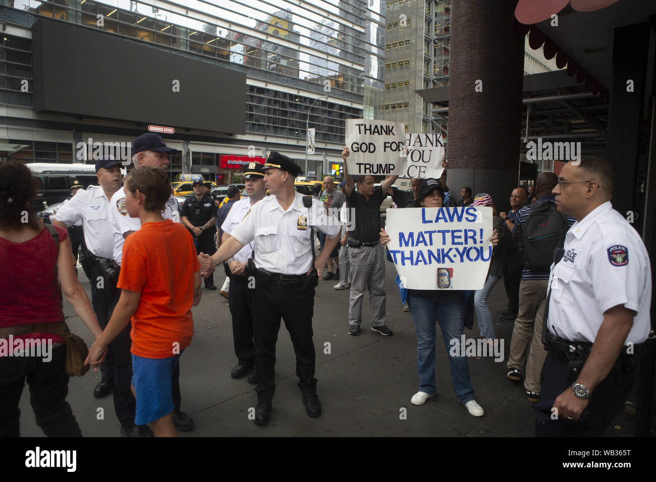
M 35 111 L 31 27 L 52 18 L 245 74 L 241 133 L 172 126 L 174 134 L 163 134 L 179 149 L 172 178 L 203 166 L 206 177 L 214 179 L 216 170 L 224 184 L 234 171 L 220 167 L 222 156 L 260 156 L 264 149 L 302 163 L 306 122 L 316 129 L 308 171 L 321 171 L 324 153 L 328 164 L 341 159 L 345 119 L 377 111 L 365 99 L 383 89 L 382 10 L 380 0 L 0 0 L 0 157 L 70 163 L 80 139 L 127 142 L 146 131 L 138 119 L 104 118 L 102 108 L 93 117 Z M 88 82 L 103 56 L 75 59 L 85 64 Z M 116 75 L 129 72 L 116 66 Z

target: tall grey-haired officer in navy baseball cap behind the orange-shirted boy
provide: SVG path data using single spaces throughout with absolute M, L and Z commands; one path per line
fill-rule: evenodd
M 132 143 L 132 161 L 134 169 L 144 166 L 166 167 L 169 164 L 169 153 L 176 151 L 169 148 L 164 139 L 159 134 L 148 132 L 134 139 Z M 178 212 L 178 203 L 171 194 L 169 201 L 162 213 L 165 219 L 171 219 L 174 222 L 180 222 L 180 213 Z M 110 201 L 110 220 L 112 221 L 113 232 L 113 257 L 116 264 L 121 266 L 123 259 L 123 242 L 125 238 L 141 229 L 139 218 L 131 218 L 125 207 L 125 190 L 119 189 L 112 196 Z M 120 293 L 121 290 L 115 290 Z M 118 301 L 118 298 L 116 298 Z M 115 306 L 115 303 L 114 303 Z M 112 306 L 113 311 L 113 306 Z M 130 388 L 132 380 L 132 355 L 130 347 L 132 344 L 130 338 L 131 324 L 113 340 L 112 346 L 115 347 L 115 356 L 117 360 L 116 383 L 114 386 L 114 406 L 116 414 L 121 422 L 121 435 L 124 437 L 152 437 L 152 432 L 148 426 L 134 425 L 134 395 Z M 191 417 L 180 411 L 180 363 L 173 371 L 173 422 L 178 431 L 184 432 L 191 430 L 194 421 Z

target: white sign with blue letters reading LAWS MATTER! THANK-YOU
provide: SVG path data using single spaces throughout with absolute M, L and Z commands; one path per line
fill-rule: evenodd
M 478 290 L 485 284 L 491 207 L 388 209 L 385 230 L 405 288 Z

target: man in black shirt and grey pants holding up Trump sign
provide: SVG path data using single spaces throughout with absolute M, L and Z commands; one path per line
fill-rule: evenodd
M 353 176 L 348 174 L 350 150 L 344 147 L 344 180 L 346 182 L 346 205 L 350 209 L 352 231 L 348 231 L 348 255 L 350 260 L 351 292 L 348 305 L 348 334 L 357 336 L 362 323 L 362 298 L 369 287 L 369 310 L 371 329 L 385 336 L 392 335 L 385 325 L 385 255 L 379 243 L 380 205 L 398 176 L 387 176 L 374 189 L 374 177 L 358 176 L 355 190 Z

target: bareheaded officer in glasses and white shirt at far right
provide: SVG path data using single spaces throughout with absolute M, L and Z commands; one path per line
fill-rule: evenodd
M 551 269 L 543 331 L 549 352 L 535 405 L 541 436 L 601 436 L 634 384 L 636 353 L 650 328 L 645 245 L 611 205 L 609 163 L 580 162 L 565 164 L 553 190 L 558 211 L 577 222 Z

